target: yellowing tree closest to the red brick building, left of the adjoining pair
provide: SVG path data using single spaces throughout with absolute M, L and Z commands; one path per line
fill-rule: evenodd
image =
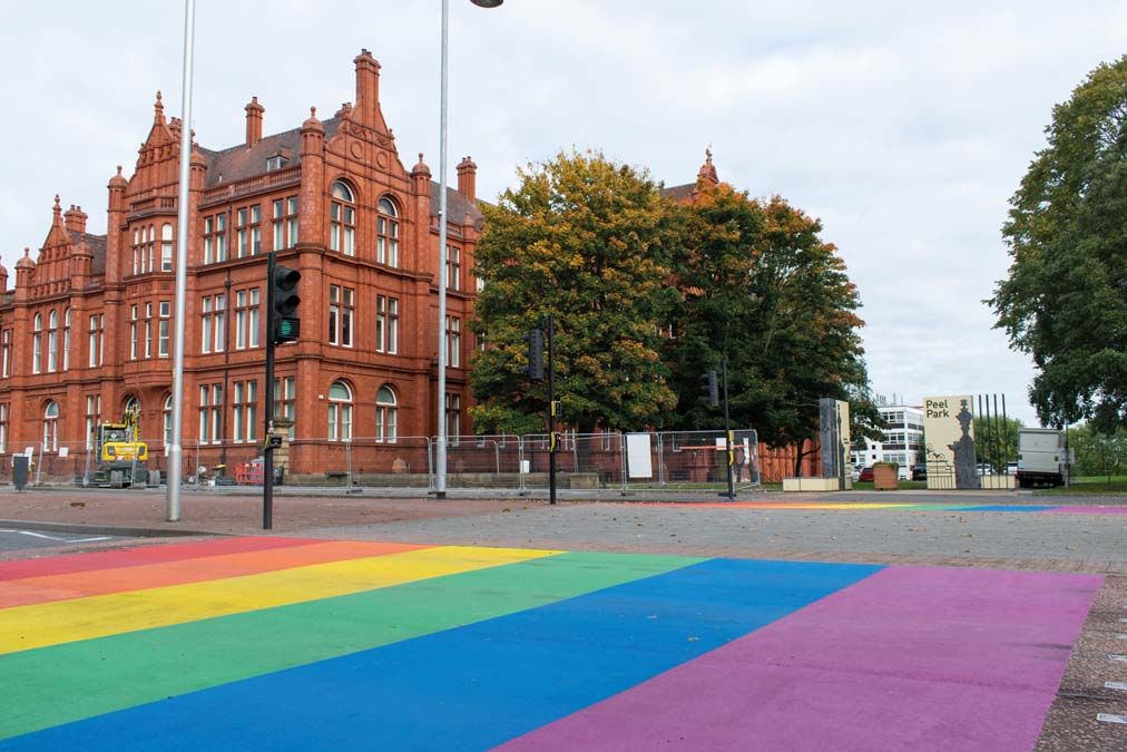
M 547 386 L 530 383 L 524 336 L 556 321 L 561 419 L 580 432 L 656 424 L 666 386 L 660 326 L 673 292 L 669 212 L 644 171 L 600 152 L 559 153 L 520 170 L 520 185 L 483 205 L 476 274 L 486 285 L 472 328 L 476 428 L 544 431 Z

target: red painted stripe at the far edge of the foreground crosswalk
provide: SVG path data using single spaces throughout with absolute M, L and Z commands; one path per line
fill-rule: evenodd
M 113 551 L 66 554 L 42 559 L 0 561 L 0 581 L 43 577 L 71 572 L 115 569 L 117 567 L 133 567 L 143 564 L 192 559 L 201 556 L 261 551 L 270 548 L 289 548 L 291 546 L 308 546 L 310 543 L 323 542 L 323 540 L 316 538 L 268 538 L 256 536 L 247 538 L 218 538 L 215 540 L 195 541 L 192 543 L 137 546 L 135 548 L 116 549 Z

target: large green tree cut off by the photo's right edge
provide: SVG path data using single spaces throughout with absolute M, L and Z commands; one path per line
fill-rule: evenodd
M 1053 110 L 1002 233 L 1012 264 L 990 304 L 1037 366 L 1046 425 L 1127 426 L 1127 56 Z

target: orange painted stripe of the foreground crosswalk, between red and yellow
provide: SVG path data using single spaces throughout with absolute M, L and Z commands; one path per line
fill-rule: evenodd
M 206 556 L 177 561 L 163 561 L 133 567 L 76 572 L 0 582 L 0 609 L 66 601 L 90 595 L 107 595 L 169 585 L 184 585 L 207 580 L 223 580 L 292 569 L 314 564 L 329 564 L 370 556 L 401 554 L 431 546 L 414 543 L 379 543 L 356 541 L 322 541 L 293 548 Z

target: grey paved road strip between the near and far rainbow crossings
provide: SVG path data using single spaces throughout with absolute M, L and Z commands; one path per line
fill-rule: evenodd
M 524 503 L 509 512 L 394 524 L 325 529 L 313 534 L 408 542 L 551 545 L 711 551 L 715 556 L 800 551 L 825 555 L 987 557 L 1127 565 L 1127 516 L 913 510 L 755 510 L 682 505 Z

